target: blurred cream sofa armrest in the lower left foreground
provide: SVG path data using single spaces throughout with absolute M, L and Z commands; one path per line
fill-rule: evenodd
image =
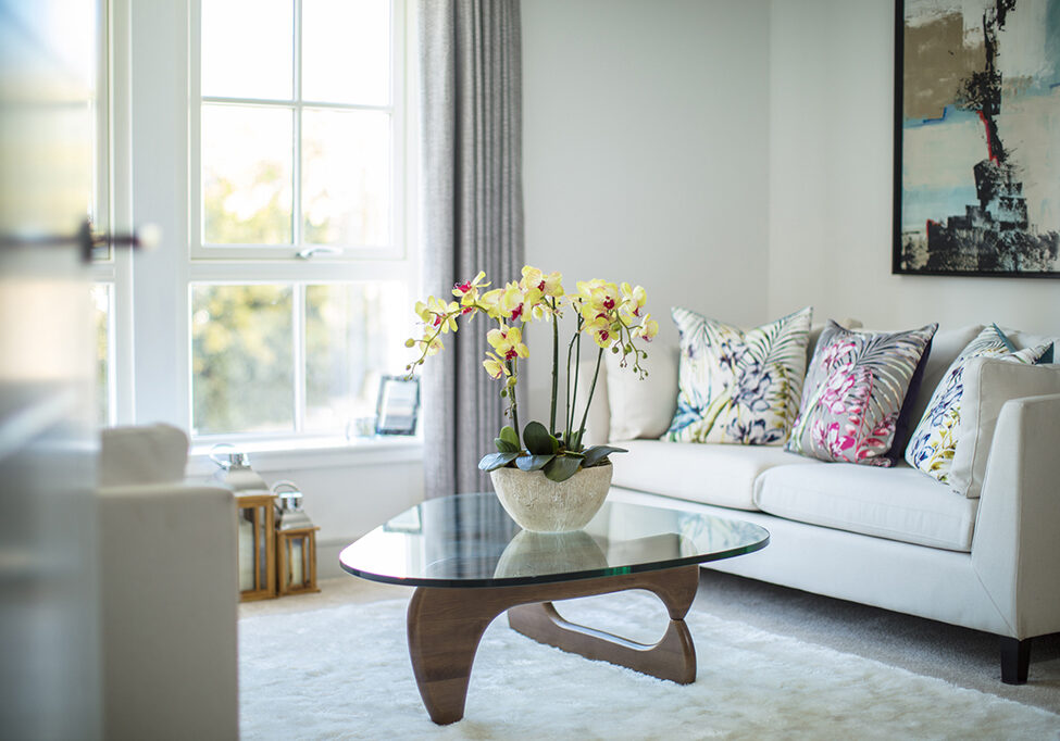
M 98 502 L 104 737 L 238 738 L 235 498 L 151 483 Z

